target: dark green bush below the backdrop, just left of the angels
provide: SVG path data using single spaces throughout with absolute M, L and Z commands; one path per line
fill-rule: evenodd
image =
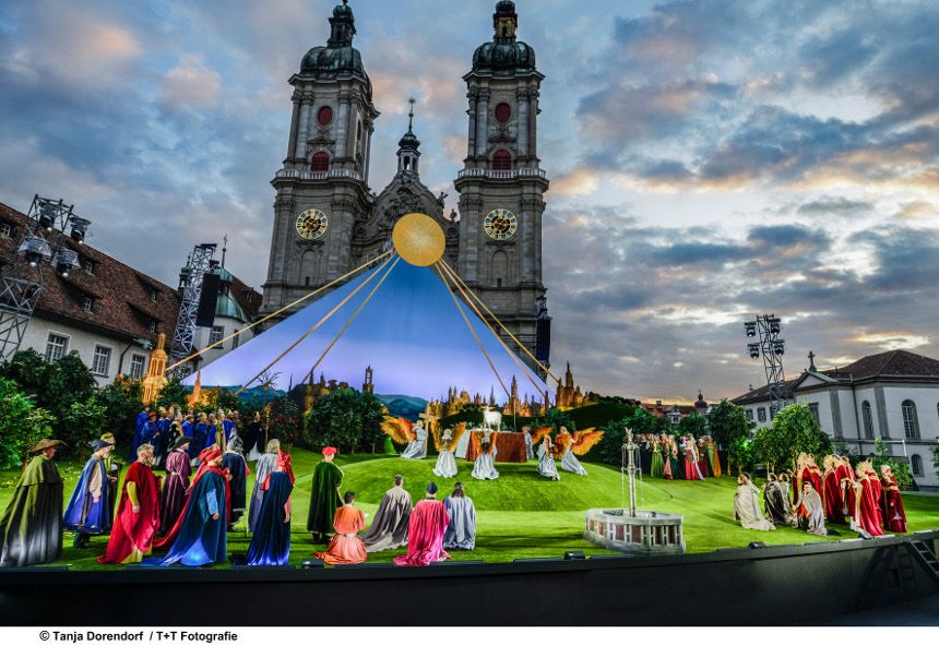
M 335 445 L 347 453 L 381 447 L 384 406 L 371 394 L 340 387 L 310 406 L 304 431 L 314 450 Z

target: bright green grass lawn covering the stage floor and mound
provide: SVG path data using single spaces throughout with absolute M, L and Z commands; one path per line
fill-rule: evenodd
M 290 562 L 299 564 L 310 558 L 314 546 L 306 531 L 307 511 L 310 502 L 310 477 L 318 454 L 294 449 L 294 470 L 297 476 L 294 489 L 290 522 L 293 545 Z M 467 494 L 473 498 L 477 511 L 477 536 L 474 551 L 450 551 L 454 560 L 485 560 L 508 562 L 515 558 L 559 557 L 566 550 L 585 553 L 609 553 L 585 541 L 581 536 L 584 511 L 595 507 L 620 507 L 627 500 L 626 488 L 619 468 L 585 464 L 586 477 L 561 471 L 560 481 L 549 481 L 536 473 L 536 462 L 527 464 L 497 464 L 500 477 L 495 481 L 477 481 L 470 477 L 472 464 L 457 459 L 460 474 L 456 479 L 441 480 L 431 471 L 435 458 L 408 461 L 399 457 L 376 455 L 340 455 L 336 464 L 345 473 L 343 491 L 356 492 L 359 507 L 368 514 L 371 523 L 384 491 L 391 487 L 394 475 L 404 475 L 405 488 L 415 502 L 424 497 L 427 482 L 436 480 L 442 499 L 455 481 L 463 481 Z M 66 481 L 66 503 L 79 480 L 81 466 L 59 464 Z M 0 473 L 0 507 L 5 509 L 19 478 L 17 471 Z M 248 482 L 250 503 L 253 475 Z M 685 541 L 689 553 L 712 551 L 717 548 L 745 547 L 754 540 L 768 545 L 800 545 L 821 540 L 856 537 L 846 526 L 834 528 L 841 536 L 816 537 L 789 527 L 777 527 L 773 531 L 748 530 L 733 521 L 734 490 L 736 481 L 729 477 L 705 481 L 666 481 L 645 479 L 638 491 L 640 509 L 679 513 L 685 517 Z M 904 494 L 903 501 L 908 518 L 910 531 L 939 527 L 939 495 Z M 228 534 L 230 553 L 245 553 L 250 542 L 245 533 L 246 521 Z M 71 533 L 66 534 L 66 548 L 58 565 L 69 564 L 74 569 L 114 569 L 98 565 L 94 559 L 104 552 L 106 536 L 92 539 L 90 548 L 74 549 Z M 370 553 L 369 562 L 387 562 L 404 549 Z

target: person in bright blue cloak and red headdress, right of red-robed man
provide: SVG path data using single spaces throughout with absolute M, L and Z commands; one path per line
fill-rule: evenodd
M 202 566 L 225 562 L 227 558 L 228 493 L 222 471 L 222 451 L 214 447 L 203 451 L 200 458 L 205 467 L 192 482 L 186 507 L 166 537 L 154 544 L 157 549 L 173 544 L 161 562 L 162 566 L 177 562 Z

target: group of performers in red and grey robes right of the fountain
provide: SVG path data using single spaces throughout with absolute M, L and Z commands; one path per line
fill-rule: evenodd
M 906 533 L 906 512 L 890 466 L 880 475 L 870 461 L 855 467 L 846 457 L 828 455 L 818 467 L 813 455 L 800 454 L 789 473 L 769 473 L 760 491 L 747 475 L 737 478 L 734 517 L 745 528 L 773 530 L 791 525 L 813 535 L 836 534 L 841 524 L 864 537 Z

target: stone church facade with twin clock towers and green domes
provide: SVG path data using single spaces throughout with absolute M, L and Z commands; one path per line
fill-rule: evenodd
M 447 235 L 444 259 L 526 346 L 535 349 L 542 283 L 543 194 L 537 155 L 535 52 L 515 38 L 515 3 L 502 0 L 492 40 L 473 53 L 463 76 L 468 98 L 466 158 L 454 180 L 460 214 L 420 181 L 420 141 L 408 122 L 397 171 L 375 194 L 368 184 L 379 111 L 346 0 L 333 10 L 325 47 L 302 58 L 284 166 L 272 183 L 274 231 L 262 313 L 275 311 L 388 249 L 407 213 L 433 217 Z

